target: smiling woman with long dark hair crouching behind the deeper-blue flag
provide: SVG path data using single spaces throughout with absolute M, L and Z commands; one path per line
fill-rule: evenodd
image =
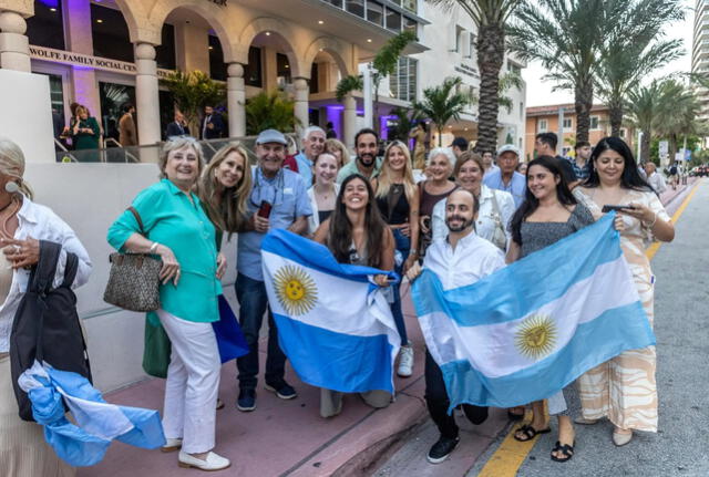
M 394 238 L 381 218 L 369 180 L 359 174 L 347 177 L 337 197 L 335 211 L 315 234 L 315 240 L 323 243 L 340 263 L 363 265 L 380 270 L 394 268 Z M 386 274 L 374 281 L 387 287 Z M 372 407 L 387 407 L 391 394 L 383 391 L 362 393 Z M 321 390 L 320 415 L 332 417 L 342 411 L 342 393 Z

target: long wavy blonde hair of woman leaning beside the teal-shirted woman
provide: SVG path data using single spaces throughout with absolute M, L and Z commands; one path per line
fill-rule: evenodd
M 219 195 L 214 172 L 232 153 L 244 157 L 244 174 L 235 187 L 228 187 Z M 248 164 L 248 154 L 240 143 L 228 143 L 217 151 L 197 183 L 197 196 L 209 220 L 220 230 L 228 231 L 229 237 L 248 221 L 246 199 L 250 191 L 251 168 Z

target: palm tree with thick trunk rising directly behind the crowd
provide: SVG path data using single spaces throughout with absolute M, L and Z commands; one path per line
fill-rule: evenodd
M 500 70 L 505 56 L 507 20 L 522 0 L 429 0 L 451 8 L 460 6 L 475 23 L 477 70 L 480 71 L 480 106 L 475 151 L 497 149 L 497 113 L 500 111 Z

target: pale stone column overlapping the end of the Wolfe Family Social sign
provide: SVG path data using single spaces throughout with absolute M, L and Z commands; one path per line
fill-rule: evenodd
M 155 46 L 150 43 L 135 45 L 135 70 L 137 137 L 141 145 L 155 144 L 161 138 Z

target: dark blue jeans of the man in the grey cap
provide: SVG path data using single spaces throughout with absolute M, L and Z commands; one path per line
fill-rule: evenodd
M 268 295 L 263 281 L 245 274 L 236 277 L 236 299 L 239 301 L 239 324 L 246 338 L 249 352 L 236 359 L 239 370 L 239 388 L 256 388 L 258 375 L 258 332 L 268 308 Z M 266 356 L 266 384 L 280 384 L 286 372 L 286 355 L 278 344 L 278 330 L 274 315 L 268 308 L 268 354 Z

